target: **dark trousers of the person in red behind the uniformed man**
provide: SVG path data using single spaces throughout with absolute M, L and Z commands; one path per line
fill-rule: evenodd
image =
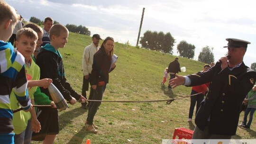
M 198 92 L 191 90 L 191 95 L 197 94 Z M 189 118 L 192 118 L 195 104 L 196 104 L 196 113 L 198 109 L 200 108 L 200 103 L 203 100 L 204 95 L 203 94 L 198 94 L 195 96 L 190 97 L 190 108 L 189 108 Z

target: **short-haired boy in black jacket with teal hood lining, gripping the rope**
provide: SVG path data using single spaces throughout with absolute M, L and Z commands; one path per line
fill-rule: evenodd
M 85 102 L 85 98 L 78 94 L 66 81 L 62 55 L 58 51 L 67 43 L 68 29 L 61 24 L 55 24 L 49 31 L 51 44 L 46 44 L 37 55 L 37 65 L 40 67 L 40 78 L 51 78 L 53 84 L 64 96 L 64 99 L 72 105 L 76 100 Z M 41 89 L 48 97 L 50 93 L 47 89 Z M 50 97 L 51 99 L 51 97 Z M 33 133 L 32 140 L 43 141 L 44 144 L 53 144 L 55 136 L 59 133 L 58 111 L 51 108 L 38 108 L 37 119 L 41 123 L 42 129 L 39 133 Z

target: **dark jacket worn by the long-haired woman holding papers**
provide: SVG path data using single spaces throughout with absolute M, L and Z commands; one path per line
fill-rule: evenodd
M 93 55 L 93 64 L 91 70 L 91 85 L 98 85 L 98 82 L 109 83 L 109 73 L 114 70 L 111 68 L 111 59 L 104 48 L 100 48 Z

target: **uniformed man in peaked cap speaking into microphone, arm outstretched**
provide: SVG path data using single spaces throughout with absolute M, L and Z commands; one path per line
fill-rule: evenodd
M 207 96 L 195 117 L 192 139 L 230 139 L 235 135 L 241 104 L 255 83 L 256 72 L 243 62 L 250 42 L 236 38 L 226 40 L 229 43 L 224 47 L 228 47 L 228 56 L 221 57 L 208 71 L 176 75 L 170 80 L 173 88 L 210 82 Z

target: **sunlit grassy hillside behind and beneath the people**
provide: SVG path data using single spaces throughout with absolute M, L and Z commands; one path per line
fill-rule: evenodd
M 101 41 L 103 42 L 103 41 Z M 82 54 L 91 37 L 70 33 L 68 44 L 60 50 L 64 57 L 66 78 L 73 88 L 81 93 Z M 114 53 L 119 56 L 116 69 L 110 73 L 110 83 L 103 100 L 157 100 L 190 95 L 191 88 L 180 86 L 168 89 L 167 82 L 161 86 L 163 72 L 176 56 L 115 44 Z M 187 75 L 202 70 L 204 63 L 180 57 L 181 67 Z M 89 93 L 88 93 L 89 95 Z M 102 102 L 94 117 L 99 126 L 98 134 L 84 130 L 87 110 L 77 103 L 59 113 L 60 133 L 55 144 L 162 144 L 162 139 L 172 139 L 174 128 L 194 129 L 194 122 L 187 122 L 190 98 L 165 102 L 113 103 Z M 240 121 L 242 121 L 243 113 Z M 193 117 L 194 119 L 194 117 Z M 255 139 L 255 123 L 251 130 L 238 128 L 235 139 Z M 33 142 L 32 144 L 39 144 Z

